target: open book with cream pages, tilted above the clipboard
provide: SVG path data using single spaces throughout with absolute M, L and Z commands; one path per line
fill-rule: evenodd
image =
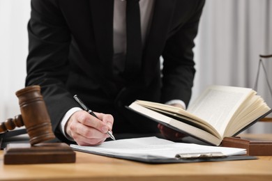
M 220 145 L 271 112 L 251 88 L 209 86 L 187 110 L 136 100 L 130 109 L 211 145 Z

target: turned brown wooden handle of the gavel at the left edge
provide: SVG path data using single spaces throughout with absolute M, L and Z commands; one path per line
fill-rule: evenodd
M 22 127 L 24 122 L 21 115 L 17 115 L 14 118 L 8 118 L 5 122 L 0 125 L 0 133 L 13 130 L 15 127 Z

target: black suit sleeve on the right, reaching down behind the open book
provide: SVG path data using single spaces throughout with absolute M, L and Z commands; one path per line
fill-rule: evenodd
M 162 102 L 182 100 L 188 106 L 195 76 L 192 48 L 203 6 L 204 1 L 199 1 L 190 18 L 167 40 L 163 52 Z

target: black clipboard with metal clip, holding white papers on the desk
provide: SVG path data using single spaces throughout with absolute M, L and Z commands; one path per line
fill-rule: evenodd
M 146 164 L 222 162 L 257 159 L 257 157 L 253 156 L 244 156 L 244 149 L 175 143 L 165 139 L 158 139 L 154 136 L 106 141 L 96 146 L 71 144 L 70 147 L 75 151 L 117 159 L 127 159 Z

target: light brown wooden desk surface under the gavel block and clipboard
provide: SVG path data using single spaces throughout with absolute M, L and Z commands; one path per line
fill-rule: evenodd
M 272 138 L 272 134 L 265 135 Z M 255 160 L 143 164 L 77 152 L 75 164 L 4 165 L 0 180 L 272 180 L 272 156 Z

